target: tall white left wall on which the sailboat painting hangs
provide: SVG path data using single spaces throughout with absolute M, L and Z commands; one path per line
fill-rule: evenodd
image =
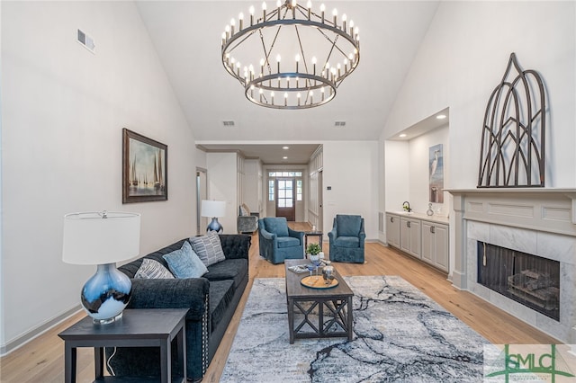
M 62 263 L 64 214 L 137 211 L 140 254 L 157 250 L 195 230 L 202 155 L 133 3 L 3 2 L 2 65 L 5 352 L 76 309 L 95 272 Z M 167 201 L 122 205 L 124 127 L 167 145 Z

